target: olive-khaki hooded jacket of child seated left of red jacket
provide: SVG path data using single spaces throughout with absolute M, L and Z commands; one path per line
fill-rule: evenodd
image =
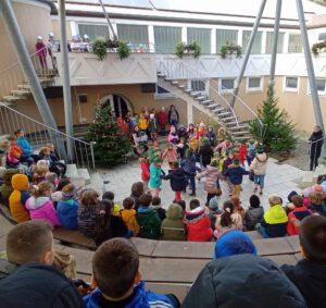
M 162 222 L 161 239 L 187 241 L 184 211 L 179 205 L 171 205 L 166 211 L 166 219 Z

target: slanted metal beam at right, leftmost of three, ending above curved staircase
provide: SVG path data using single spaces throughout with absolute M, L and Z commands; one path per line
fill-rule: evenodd
M 248 63 L 248 60 L 249 60 L 249 57 L 250 57 L 251 48 L 252 48 L 252 45 L 253 45 L 253 41 L 254 41 L 254 38 L 255 38 L 255 35 L 256 35 L 256 32 L 258 32 L 258 28 L 259 28 L 259 25 L 260 25 L 260 22 L 261 22 L 261 19 L 262 19 L 264 9 L 265 9 L 265 4 L 266 4 L 266 0 L 262 0 L 260 9 L 259 9 L 259 12 L 258 12 L 258 15 L 255 17 L 255 21 L 254 21 L 254 24 L 253 24 L 253 27 L 252 27 L 252 32 L 251 32 L 249 41 L 248 41 L 248 46 L 247 46 L 247 50 L 246 50 L 246 53 L 244 53 L 242 66 L 241 66 L 239 76 L 236 79 L 236 87 L 234 89 L 234 96 L 233 96 L 231 106 L 235 104 L 236 97 L 237 97 L 237 95 L 239 93 L 239 87 L 240 87 L 241 81 L 242 81 L 243 75 L 244 75 L 244 71 L 246 71 L 247 63 Z

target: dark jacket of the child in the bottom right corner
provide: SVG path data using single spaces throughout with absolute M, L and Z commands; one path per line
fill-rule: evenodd
M 296 266 L 285 264 L 280 269 L 299 288 L 309 308 L 326 307 L 326 267 L 303 259 Z

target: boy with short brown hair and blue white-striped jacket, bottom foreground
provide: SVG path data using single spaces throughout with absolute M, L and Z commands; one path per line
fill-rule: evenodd
M 145 289 L 139 254 L 127 239 L 112 238 L 97 249 L 92 258 L 92 278 L 97 288 L 84 297 L 88 308 L 179 307 L 174 295 L 159 295 Z

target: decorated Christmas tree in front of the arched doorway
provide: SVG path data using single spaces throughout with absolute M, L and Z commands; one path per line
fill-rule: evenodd
M 88 141 L 95 141 L 95 160 L 100 165 L 115 165 L 127 161 L 131 150 L 128 136 L 118 126 L 110 104 L 96 107 L 93 123 L 86 135 Z

